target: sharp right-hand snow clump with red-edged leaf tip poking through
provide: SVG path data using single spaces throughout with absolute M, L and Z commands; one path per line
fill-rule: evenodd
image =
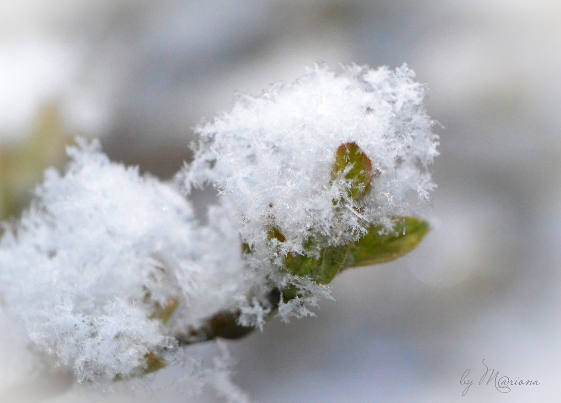
M 280 289 L 279 271 L 329 283 L 352 242 L 373 227 L 393 231 L 434 188 L 427 166 L 438 138 L 414 77 L 406 65 L 341 74 L 318 65 L 259 97 L 238 96 L 231 112 L 197 127 L 187 191 L 217 187 L 240 226 L 246 264 Z

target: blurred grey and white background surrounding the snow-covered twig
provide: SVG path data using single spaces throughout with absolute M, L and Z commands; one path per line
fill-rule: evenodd
M 165 179 L 236 92 L 319 60 L 407 62 L 445 128 L 433 230 L 405 258 L 339 276 L 316 318 L 228 343 L 233 379 L 257 402 L 558 401 L 560 51 L 558 0 L 0 1 L 0 216 L 17 217 L 76 135 Z M 540 384 L 480 386 L 483 359 Z M 16 367 L 0 364 L 0 390 Z

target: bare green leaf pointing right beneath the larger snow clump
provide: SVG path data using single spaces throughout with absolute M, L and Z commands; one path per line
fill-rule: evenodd
M 429 223 L 413 217 L 398 219 L 394 232 L 380 235 L 381 226 L 371 226 L 366 236 L 351 244 L 347 267 L 390 262 L 409 253 L 429 232 Z

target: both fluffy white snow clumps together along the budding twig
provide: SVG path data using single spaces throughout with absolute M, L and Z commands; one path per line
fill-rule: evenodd
M 80 381 L 140 375 L 183 345 L 309 313 L 339 269 L 403 253 L 380 237 L 404 235 L 396 217 L 434 187 L 438 139 L 413 78 L 405 65 L 318 65 L 240 96 L 197 127 L 172 184 L 79 141 L 4 226 L 0 309 L 44 365 Z M 219 191 L 205 225 L 189 201 L 203 186 Z

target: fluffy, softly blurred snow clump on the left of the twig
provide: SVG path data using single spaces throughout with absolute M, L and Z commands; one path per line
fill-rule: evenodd
M 229 219 L 198 226 L 173 186 L 109 162 L 97 144 L 69 154 L 66 174 L 45 174 L 0 242 L 0 309 L 79 381 L 139 374 L 146 355 L 177 348 L 180 330 L 238 304 L 241 246 Z

